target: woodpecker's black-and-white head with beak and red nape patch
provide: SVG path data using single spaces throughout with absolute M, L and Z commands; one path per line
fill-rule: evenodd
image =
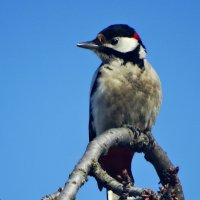
M 122 59 L 125 62 L 137 63 L 146 58 L 146 49 L 137 32 L 128 25 L 111 25 L 89 42 L 81 42 L 78 47 L 94 51 L 103 62 Z

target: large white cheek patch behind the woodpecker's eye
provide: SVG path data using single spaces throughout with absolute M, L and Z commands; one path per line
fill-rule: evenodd
M 113 45 L 112 48 L 123 53 L 133 51 L 139 44 L 135 38 L 121 37 L 118 39 L 117 45 Z M 111 47 L 111 45 L 109 46 Z

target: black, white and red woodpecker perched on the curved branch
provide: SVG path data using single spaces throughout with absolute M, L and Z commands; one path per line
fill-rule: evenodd
M 77 46 L 93 51 L 101 60 L 90 90 L 89 140 L 126 125 L 151 131 L 162 101 L 161 81 L 147 61 L 146 47 L 136 30 L 126 24 L 110 25 L 94 40 Z M 127 147 L 113 147 L 99 162 L 110 176 L 124 184 L 134 181 L 133 155 Z M 120 197 L 107 190 L 107 199 Z

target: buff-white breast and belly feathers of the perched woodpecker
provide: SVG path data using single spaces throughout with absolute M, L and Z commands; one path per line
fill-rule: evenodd
M 100 67 L 98 86 L 91 96 L 93 128 L 101 134 L 109 128 L 130 124 L 151 129 L 161 103 L 160 80 L 145 61 L 140 69 L 113 61 Z

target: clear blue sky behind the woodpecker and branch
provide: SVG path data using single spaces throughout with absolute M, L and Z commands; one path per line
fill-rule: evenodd
M 100 60 L 76 47 L 111 24 L 134 27 L 158 72 L 163 103 L 154 136 L 199 199 L 200 1 L 1 0 L 0 199 L 37 200 L 62 186 L 88 143 L 92 75 Z M 143 155 L 136 185 L 158 189 Z M 77 199 L 105 199 L 93 178 Z

